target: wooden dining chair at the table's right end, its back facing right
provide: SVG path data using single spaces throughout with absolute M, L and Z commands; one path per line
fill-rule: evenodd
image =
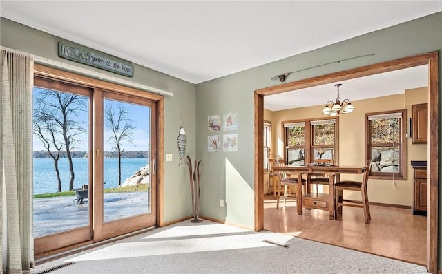
M 364 175 L 362 182 L 352 181 L 352 180 L 343 180 L 340 182 L 336 182 L 334 184 L 335 187 L 335 215 L 338 213 L 342 213 L 342 207 L 361 207 L 364 209 L 364 217 L 365 223 L 368 224 L 372 219 L 370 215 L 370 208 L 367 196 L 367 182 L 368 176 L 372 169 L 372 160 L 367 160 L 367 163 L 364 167 Z M 343 191 L 361 191 L 361 202 L 357 201 L 349 201 L 343 199 Z

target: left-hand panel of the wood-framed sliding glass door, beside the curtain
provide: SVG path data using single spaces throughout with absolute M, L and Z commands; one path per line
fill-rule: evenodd
M 34 237 L 35 252 L 41 253 L 92 238 L 87 192 L 92 89 L 42 78 L 34 85 Z

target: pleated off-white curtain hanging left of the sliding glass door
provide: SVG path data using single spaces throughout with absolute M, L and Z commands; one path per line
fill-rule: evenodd
M 32 57 L 1 48 L 0 269 L 34 266 L 32 236 Z

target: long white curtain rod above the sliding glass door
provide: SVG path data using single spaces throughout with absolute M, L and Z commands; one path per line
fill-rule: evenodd
M 99 80 L 102 80 L 102 81 L 107 81 L 107 82 L 111 82 L 111 83 L 115 83 L 115 84 L 119 84 L 119 85 L 124 85 L 126 87 L 134 87 L 134 88 L 137 88 L 137 89 L 142 89 L 142 90 L 144 90 L 146 92 L 153 92 L 153 93 L 156 93 L 156 94 L 173 96 L 172 92 L 167 92 L 166 90 L 157 89 L 156 87 L 149 87 L 147 85 L 142 85 L 142 84 L 138 84 L 138 83 L 133 83 L 131 81 L 124 80 L 122 78 L 117 78 L 117 77 L 114 77 L 114 76 L 102 74 L 100 72 L 93 72 L 91 70 L 86 70 L 86 69 L 81 68 L 81 67 L 76 67 L 75 65 L 69 65 L 67 63 L 61 63 L 59 61 L 54 61 L 54 60 L 47 59 L 47 58 L 44 58 L 44 57 L 41 57 L 41 56 L 37 56 L 37 55 L 34 55 L 34 54 L 28 54 L 26 52 L 21 52 L 19 50 L 14 50 L 14 49 L 6 48 L 6 47 L 3 47 L 3 45 L 1 46 L 1 49 L 2 50 L 8 50 L 9 52 L 14 52 L 14 53 L 17 53 L 17 54 L 23 54 L 23 55 L 30 56 L 30 57 L 32 57 L 34 59 L 35 63 L 39 63 L 41 65 L 49 65 L 50 67 L 56 67 L 56 68 L 60 68 L 62 70 L 68 70 L 70 72 L 75 72 L 75 73 L 78 73 L 78 74 L 82 74 L 82 75 L 98 78 Z

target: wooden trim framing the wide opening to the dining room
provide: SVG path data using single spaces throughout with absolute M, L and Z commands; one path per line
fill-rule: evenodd
M 255 91 L 255 230 L 260 231 L 264 228 L 264 187 L 263 177 L 264 169 L 262 165 L 263 159 L 263 131 L 262 125 L 264 123 L 264 96 L 271 94 L 278 94 L 282 92 L 294 91 L 304 89 L 307 87 L 314 87 L 316 85 L 323 85 L 328 83 L 337 83 L 338 81 L 345 81 L 351 78 L 358 78 L 362 76 L 369 76 L 372 74 L 380 74 L 383 72 L 391 72 L 394 70 L 401 70 L 407 67 L 415 67 L 419 65 L 428 65 L 429 80 L 428 80 L 428 213 L 427 213 L 427 260 L 426 266 L 430 273 L 437 272 L 438 264 L 438 207 L 437 200 L 439 195 L 439 63 L 437 52 L 430 52 L 427 54 L 419 54 L 416 56 L 405 57 L 403 59 L 396 59 L 393 61 L 386 61 L 383 63 L 376 63 L 374 65 L 367 65 L 365 67 L 358 67 L 356 69 L 347 70 L 344 72 L 336 72 L 323 76 L 295 81 L 292 83 L 285 83 L 273 87 L 257 89 Z

